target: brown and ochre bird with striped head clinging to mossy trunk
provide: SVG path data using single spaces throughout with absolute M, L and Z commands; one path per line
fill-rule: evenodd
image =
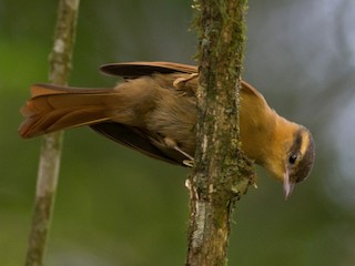
M 199 70 L 172 62 L 109 63 L 104 74 L 123 78 L 113 88 L 38 83 L 21 108 L 23 139 L 88 125 L 151 157 L 189 166 L 196 142 Z M 240 140 L 247 157 L 283 183 L 287 198 L 314 164 L 311 132 L 271 109 L 245 81 L 240 89 Z

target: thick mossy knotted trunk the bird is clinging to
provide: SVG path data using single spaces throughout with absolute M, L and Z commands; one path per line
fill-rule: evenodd
M 251 162 L 239 141 L 239 89 L 247 0 L 195 0 L 200 41 L 197 142 L 190 176 L 186 265 L 226 265 L 236 200 L 251 183 Z

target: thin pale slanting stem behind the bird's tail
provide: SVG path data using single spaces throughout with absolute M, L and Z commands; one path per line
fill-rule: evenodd
M 71 70 L 71 58 L 79 10 L 79 0 L 60 0 L 54 33 L 54 44 L 50 54 L 49 81 L 67 84 Z M 43 257 L 51 214 L 57 191 L 62 133 L 48 134 L 43 139 L 38 171 L 32 226 L 29 237 L 26 265 L 43 265 Z

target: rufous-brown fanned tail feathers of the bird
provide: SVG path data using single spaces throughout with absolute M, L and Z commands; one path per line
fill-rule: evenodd
M 73 89 L 49 84 L 31 88 L 31 99 L 21 109 L 24 122 L 20 125 L 22 137 L 32 137 L 63 129 L 89 125 L 112 117 L 106 106 L 112 89 Z M 110 100 L 112 101 L 112 99 Z

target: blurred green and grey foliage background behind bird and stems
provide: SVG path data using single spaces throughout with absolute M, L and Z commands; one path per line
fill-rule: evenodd
M 115 79 L 101 75 L 98 66 L 114 61 L 193 63 L 190 6 L 186 0 L 82 1 L 70 83 L 112 85 Z M 24 262 L 40 139 L 18 136 L 19 108 L 31 83 L 47 81 L 55 11 L 57 1 L 0 0 L 4 266 Z M 352 0 L 250 0 L 245 76 L 280 113 L 311 129 L 317 161 L 287 202 L 281 185 L 260 171 L 258 190 L 237 204 L 230 265 L 355 264 L 355 122 L 347 123 L 355 113 L 348 111 L 355 83 L 352 11 Z M 183 265 L 189 171 L 89 129 L 68 131 L 64 139 L 45 265 Z

